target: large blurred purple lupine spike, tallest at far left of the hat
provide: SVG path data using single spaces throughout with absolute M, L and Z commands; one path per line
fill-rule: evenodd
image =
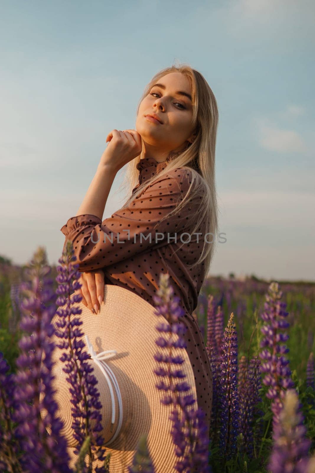
M 56 310 L 56 296 L 50 287 L 53 280 L 46 278 L 51 268 L 43 264 L 45 260 L 43 249 L 39 248 L 26 271 L 30 280 L 21 284 L 22 291 L 28 295 L 20 305 L 25 313 L 20 329 L 26 335 L 19 341 L 22 352 L 17 358 L 19 369 L 14 376 L 17 409 L 13 420 L 17 422 L 15 436 L 25 450 L 20 459 L 23 472 L 70 473 L 66 440 L 60 434 L 63 424 L 56 415 L 58 406 L 53 400 L 51 352 L 54 344 L 48 337 L 53 333 L 51 318 Z M 47 411 L 44 418 L 43 409 Z M 46 430 L 48 424 L 51 424 L 50 435 Z

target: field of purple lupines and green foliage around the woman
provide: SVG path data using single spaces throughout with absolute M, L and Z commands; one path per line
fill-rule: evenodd
M 80 298 L 70 299 L 79 277 L 72 254 L 68 245 L 57 267 L 48 265 L 44 248 L 25 267 L 0 258 L 1 472 L 110 472 L 110 457 L 99 435 L 96 379 L 88 369 L 82 322 L 74 309 Z M 315 283 L 237 280 L 233 275 L 204 282 L 194 316 L 213 373 L 207 438 L 204 413 L 185 395 L 189 386 L 181 379 L 180 359 L 171 355 L 172 347 L 185 350 L 185 327 L 166 276 L 161 274 L 154 299 L 154 373 L 156 388 L 165 392 L 162 403 L 172 406 L 178 457 L 174 472 L 315 473 Z M 53 327 L 52 316 L 65 304 L 58 327 Z M 159 324 L 162 314 L 172 330 Z M 73 396 L 75 470 L 68 466 L 51 389 L 54 347 L 49 336 L 54 331 Z M 172 333 L 178 336 L 176 344 Z M 170 348 L 167 359 L 159 352 L 165 346 Z M 63 354 L 66 348 L 71 357 Z M 46 416 L 41 415 L 43 408 Z M 145 436 L 128 465 L 128 473 L 136 472 L 154 472 Z

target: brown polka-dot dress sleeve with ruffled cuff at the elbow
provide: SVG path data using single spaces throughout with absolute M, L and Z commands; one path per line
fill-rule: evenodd
M 173 243 L 171 236 L 175 233 L 179 241 L 187 212 L 194 211 L 194 202 L 188 198 L 179 213 L 160 220 L 183 200 L 190 182 L 190 169 L 174 169 L 148 186 L 128 207 L 114 212 L 111 218 L 102 221 L 85 214 L 68 219 L 60 230 L 66 236 L 64 248 L 68 240 L 73 243 L 78 271 L 101 269 L 145 253 L 153 246 Z

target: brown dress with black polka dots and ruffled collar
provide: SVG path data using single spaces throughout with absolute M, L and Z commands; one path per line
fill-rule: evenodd
M 168 160 L 159 163 L 154 158 L 141 159 L 137 164 L 139 183 L 133 192 L 145 179 L 164 168 Z M 73 242 L 80 272 L 102 269 L 105 284 L 115 284 L 133 291 L 153 307 L 159 275 L 161 272 L 169 273 L 170 284 L 185 310 L 180 321 L 187 327 L 184 335 L 186 350 L 195 373 L 198 407 L 202 407 L 205 413 L 209 432 L 212 372 L 202 333 L 192 315 L 204 282 L 204 262 L 194 268 L 187 267 L 200 256 L 203 237 L 191 232 L 189 243 L 183 244 L 189 238 L 187 235 L 180 240 L 188 213 L 195 212 L 196 215 L 198 211 L 199 198 L 195 202 L 188 198 L 179 214 L 174 213 L 153 229 L 163 216 L 175 208 L 177 201 L 183 200 L 190 182 L 190 169 L 179 167 L 145 188 L 128 207 L 117 210 L 111 218 L 102 221 L 95 215 L 78 215 L 68 219 L 60 230 L 66 236 L 65 244 L 67 240 Z M 204 235 L 208 230 L 203 227 L 197 231 Z M 157 232 L 159 235 L 155 238 Z M 142 239 L 140 233 L 143 234 Z

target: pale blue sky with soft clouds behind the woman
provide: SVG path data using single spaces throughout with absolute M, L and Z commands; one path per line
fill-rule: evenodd
M 14 1 L 0 17 L 0 254 L 61 256 L 106 136 L 154 74 L 201 72 L 219 108 L 210 275 L 315 280 L 315 4 Z M 118 210 L 126 166 L 103 219 Z

